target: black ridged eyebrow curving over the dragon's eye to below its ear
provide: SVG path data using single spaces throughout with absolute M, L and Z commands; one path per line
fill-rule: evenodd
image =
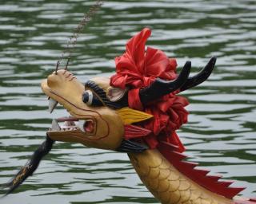
M 126 107 L 128 104 L 128 97 L 123 96 L 122 100 L 118 100 L 117 102 L 112 102 L 106 97 L 106 92 L 98 86 L 94 81 L 88 80 L 85 84 L 86 87 L 90 88 L 97 94 L 97 96 L 102 100 L 103 104 L 112 109 L 119 109 Z

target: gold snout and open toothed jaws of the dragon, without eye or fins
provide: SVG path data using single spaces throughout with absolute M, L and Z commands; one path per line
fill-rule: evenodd
M 51 139 L 110 150 L 122 143 L 124 127 L 118 112 L 106 106 L 85 104 L 82 101 L 84 85 L 71 73 L 58 70 L 43 80 L 41 87 L 50 98 L 51 111 L 59 103 L 70 113 L 69 117 L 53 120 L 52 128 L 47 131 Z

